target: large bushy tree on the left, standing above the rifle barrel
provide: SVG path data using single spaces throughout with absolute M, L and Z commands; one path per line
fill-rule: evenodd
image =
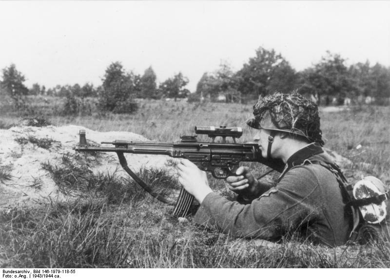
M 140 92 L 139 75 L 126 73 L 120 62 L 114 62 L 107 67 L 102 82 L 98 101 L 101 109 L 115 113 L 132 113 L 137 110 L 134 98 Z

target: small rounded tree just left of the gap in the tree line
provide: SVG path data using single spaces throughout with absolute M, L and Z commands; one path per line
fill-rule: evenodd
M 188 84 L 189 80 L 183 74 L 178 73 L 174 77 L 170 77 L 160 84 L 158 87 L 159 93 L 166 98 L 174 98 L 175 102 L 177 98 L 185 98 L 190 91 L 184 87 Z

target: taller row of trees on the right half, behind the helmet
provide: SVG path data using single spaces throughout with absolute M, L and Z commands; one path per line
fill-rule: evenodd
M 347 98 L 359 102 L 366 97 L 389 104 L 390 68 L 379 63 L 370 66 L 369 61 L 348 67 L 344 58 L 328 51 L 318 63 L 297 72 L 281 54 L 260 47 L 237 72 L 221 63 L 214 73 L 204 73 L 195 93 L 198 98 L 222 96 L 236 102 L 293 90 L 323 105 L 341 105 Z

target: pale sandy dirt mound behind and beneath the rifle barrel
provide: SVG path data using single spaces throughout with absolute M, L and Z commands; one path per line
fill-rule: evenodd
M 75 154 L 79 130 L 86 130 L 87 139 L 99 144 L 102 141 L 148 141 L 132 132 L 98 132 L 81 126 L 18 126 L 0 130 L 0 207 L 34 205 L 48 200 L 63 200 L 50 173 L 42 164 L 61 164 L 63 156 Z M 167 156 L 126 154 L 129 166 L 135 171 L 140 167 L 166 167 Z M 94 173 L 114 172 L 126 176 L 117 155 L 102 153 L 91 167 Z

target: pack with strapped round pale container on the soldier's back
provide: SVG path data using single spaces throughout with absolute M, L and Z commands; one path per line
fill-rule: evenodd
M 352 185 L 337 164 L 322 160 L 309 162 L 326 167 L 336 177 L 345 203 L 345 213 L 352 215 L 352 242 L 390 241 L 390 190 L 382 181 L 374 176 L 366 176 Z

